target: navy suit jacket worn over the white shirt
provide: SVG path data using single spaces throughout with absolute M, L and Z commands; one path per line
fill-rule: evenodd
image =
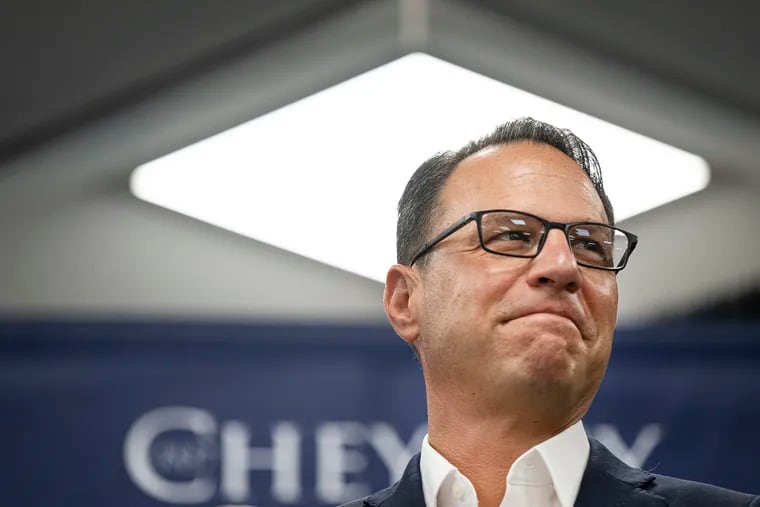
M 589 441 L 591 453 L 576 507 L 760 507 L 760 496 L 631 468 L 601 443 Z M 425 507 L 420 455 L 411 459 L 396 484 L 342 507 Z

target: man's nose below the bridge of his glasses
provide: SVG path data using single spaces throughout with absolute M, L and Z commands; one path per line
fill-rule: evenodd
M 541 252 L 531 260 L 528 283 L 534 287 L 577 292 L 583 278 L 564 231 L 547 233 Z

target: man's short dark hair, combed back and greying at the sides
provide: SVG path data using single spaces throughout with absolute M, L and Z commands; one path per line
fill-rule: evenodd
M 396 260 L 399 264 L 408 266 L 427 241 L 440 211 L 441 191 L 459 163 L 490 146 L 519 141 L 547 144 L 572 158 L 594 185 L 609 224 L 615 224 L 612 204 L 604 191 L 599 161 L 591 148 L 568 129 L 557 128 L 533 118 L 518 118 L 498 126 L 487 136 L 472 141 L 457 151 L 437 153 L 417 168 L 398 203 Z M 424 266 L 425 257 L 418 262 Z

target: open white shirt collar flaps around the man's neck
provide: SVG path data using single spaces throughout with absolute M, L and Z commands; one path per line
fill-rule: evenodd
M 588 456 L 588 438 L 583 423 L 578 421 L 517 458 L 507 475 L 507 483 L 542 480 L 541 472 L 532 473 L 530 478 L 525 473 L 525 468 L 529 468 L 528 465 L 533 467 L 538 464 L 540 469 L 548 472 L 554 492 L 562 507 L 572 507 L 578 496 Z M 425 435 L 420 453 L 420 474 L 425 504 L 436 505 L 441 485 L 447 477 L 459 473 L 454 465 L 433 449 L 428 436 Z

